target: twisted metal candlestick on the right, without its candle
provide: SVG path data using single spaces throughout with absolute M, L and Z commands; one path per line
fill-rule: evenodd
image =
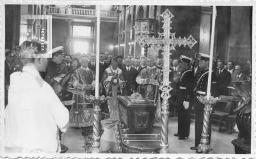
M 218 97 L 214 98 L 213 96 L 210 98 L 207 98 L 207 96 L 197 96 L 197 98 L 201 103 L 204 104 L 203 132 L 197 151 L 198 153 L 209 153 L 212 150 L 208 139 L 212 105 L 217 103 L 220 99 Z

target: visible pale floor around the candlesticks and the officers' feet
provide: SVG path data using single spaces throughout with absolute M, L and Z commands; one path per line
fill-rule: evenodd
M 161 124 L 156 123 L 154 130 L 160 133 Z M 68 147 L 67 153 L 84 153 L 84 139 L 81 129 L 68 128 L 63 134 L 61 143 Z M 177 117 L 169 118 L 169 152 L 170 153 L 195 153 L 190 150 L 195 145 L 195 123 L 192 121 L 190 126 L 189 139 L 178 140 L 173 134 L 177 133 Z M 218 132 L 216 125 L 212 125 L 211 153 L 234 153 L 234 146 L 231 141 L 237 138 L 238 133 Z

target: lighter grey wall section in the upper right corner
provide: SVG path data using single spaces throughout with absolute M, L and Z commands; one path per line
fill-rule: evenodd
M 230 17 L 228 58 L 247 66 L 252 59 L 252 6 L 232 6 Z

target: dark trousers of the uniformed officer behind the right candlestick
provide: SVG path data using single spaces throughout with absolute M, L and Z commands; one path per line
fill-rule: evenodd
M 204 104 L 202 104 L 197 98 L 195 99 L 195 147 L 198 147 L 200 144 L 200 139 L 202 137 L 203 131 L 203 123 L 204 123 Z M 211 142 L 211 116 L 209 122 L 209 130 L 208 130 L 208 139 Z

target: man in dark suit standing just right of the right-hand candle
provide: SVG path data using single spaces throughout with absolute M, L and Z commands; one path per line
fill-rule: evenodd
M 224 69 L 224 63 L 223 61 L 218 61 L 218 70 L 215 70 L 215 75 L 217 77 L 217 89 L 218 89 L 218 95 L 228 95 L 228 88 L 230 81 L 231 81 L 231 75 L 230 72 Z

